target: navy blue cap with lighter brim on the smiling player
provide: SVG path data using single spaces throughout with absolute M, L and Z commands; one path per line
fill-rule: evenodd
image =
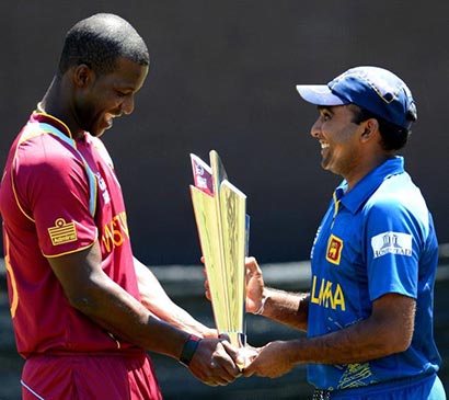
M 298 84 L 302 99 L 316 105 L 356 104 L 394 125 L 410 129 L 416 105 L 407 85 L 379 67 L 355 67 L 327 84 Z

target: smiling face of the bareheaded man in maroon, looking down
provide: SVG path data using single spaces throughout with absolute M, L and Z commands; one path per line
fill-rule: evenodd
M 74 118 L 81 129 L 101 136 L 113 126 L 113 118 L 134 111 L 134 96 L 140 90 L 148 67 L 126 58 L 117 60 L 107 75 L 90 71 L 90 80 L 76 94 Z

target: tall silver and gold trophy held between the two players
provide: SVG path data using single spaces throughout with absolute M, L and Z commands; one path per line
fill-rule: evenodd
M 199 242 L 219 334 L 244 351 L 245 255 L 249 244 L 246 196 L 228 181 L 217 153 L 210 167 L 191 155 L 195 185 L 191 185 Z

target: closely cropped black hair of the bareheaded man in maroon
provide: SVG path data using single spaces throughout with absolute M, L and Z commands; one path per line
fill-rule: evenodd
M 97 73 L 111 73 L 118 58 L 142 66 L 150 64 L 147 45 L 127 21 L 115 14 L 94 14 L 67 32 L 58 75 L 62 76 L 72 66 L 81 64 Z

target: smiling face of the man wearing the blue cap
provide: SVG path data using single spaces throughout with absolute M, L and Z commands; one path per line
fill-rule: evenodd
M 353 123 L 354 112 L 347 105 L 319 106 L 319 117 L 310 134 L 321 145 L 321 167 L 345 179 L 362 163 L 360 135 L 362 127 Z

